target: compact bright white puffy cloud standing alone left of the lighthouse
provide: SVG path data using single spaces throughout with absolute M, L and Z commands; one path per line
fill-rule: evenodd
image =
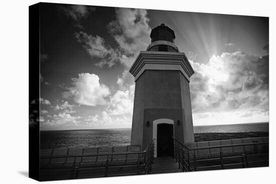
M 96 106 L 106 104 L 104 99 L 110 94 L 109 88 L 99 83 L 99 77 L 95 74 L 80 73 L 78 78 L 72 78 L 72 87 L 62 93 L 64 98 L 73 97 L 76 103 L 81 105 Z

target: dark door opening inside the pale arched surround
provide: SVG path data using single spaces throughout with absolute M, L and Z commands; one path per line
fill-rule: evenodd
M 174 125 L 160 123 L 157 125 L 157 156 L 174 157 Z

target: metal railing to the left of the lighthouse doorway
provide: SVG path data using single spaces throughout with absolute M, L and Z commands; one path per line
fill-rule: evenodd
M 114 157 L 120 156 L 119 159 Z M 84 161 L 85 157 L 95 157 L 97 161 Z M 100 159 L 99 157 L 106 157 Z M 152 169 L 154 159 L 154 140 L 150 142 L 144 151 L 134 152 L 111 152 L 111 153 L 93 153 L 93 154 L 76 154 L 63 156 L 41 156 L 42 159 L 49 159 L 45 164 L 41 164 L 41 168 L 45 173 L 51 171 L 67 171 L 64 178 L 70 175 L 70 178 L 79 177 L 98 177 L 110 175 L 128 175 L 128 174 L 146 174 Z M 67 162 L 68 158 L 73 159 L 72 162 Z M 53 159 L 64 159 L 62 163 L 53 163 Z M 95 159 L 95 160 L 96 160 Z M 126 169 L 126 172 L 120 173 L 120 170 Z M 131 169 L 130 169 L 131 168 Z M 109 169 L 111 170 L 109 172 Z M 117 171 L 116 171 L 117 170 Z M 80 172 L 85 174 L 80 176 Z M 68 174 L 70 172 L 70 174 Z M 42 172 L 43 175 L 44 172 Z M 63 172 L 60 172 L 61 174 Z M 48 174 L 50 175 L 50 174 Z M 49 176 L 51 177 L 51 175 Z M 62 178 L 62 175 L 59 176 Z

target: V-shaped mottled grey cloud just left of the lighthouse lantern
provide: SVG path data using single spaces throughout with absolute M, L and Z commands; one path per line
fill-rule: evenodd
M 118 44 L 118 49 L 111 48 L 98 35 L 78 32 L 75 37 L 92 59 L 96 60 L 97 66 L 111 67 L 119 62 L 129 68 L 137 54 L 146 50 L 150 44 L 150 20 L 147 10 L 118 8 L 115 13 L 115 20 L 108 24 L 107 29 Z

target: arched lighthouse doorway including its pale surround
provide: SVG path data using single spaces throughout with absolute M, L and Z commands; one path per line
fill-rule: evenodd
M 155 139 L 154 157 L 174 156 L 174 121 L 157 119 L 153 121 L 153 138 Z

